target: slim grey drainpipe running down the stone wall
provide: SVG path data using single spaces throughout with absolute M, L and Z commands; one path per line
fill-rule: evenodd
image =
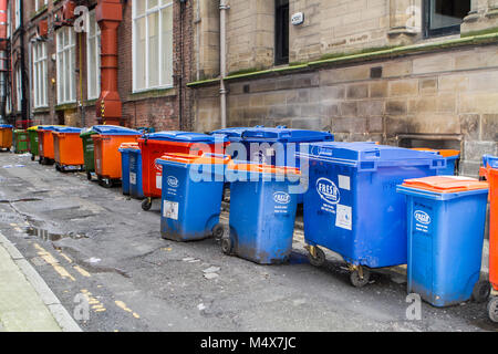
M 227 77 L 227 10 L 230 7 L 227 0 L 219 1 L 219 63 L 220 63 L 220 112 L 221 112 L 221 128 L 227 127 L 227 88 L 225 86 L 225 77 Z

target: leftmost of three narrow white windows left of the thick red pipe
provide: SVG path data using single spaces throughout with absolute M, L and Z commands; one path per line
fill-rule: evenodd
M 37 42 L 33 44 L 33 104 L 34 107 L 46 107 L 46 43 Z

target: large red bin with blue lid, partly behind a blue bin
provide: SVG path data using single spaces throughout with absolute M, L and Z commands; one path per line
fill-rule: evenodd
M 216 148 L 217 143 L 220 144 L 218 149 Z M 170 131 L 145 134 L 138 139 L 138 144 L 142 152 L 142 183 L 146 197 L 142 202 L 142 208 L 149 210 L 153 199 L 162 197 L 162 168 L 155 163 L 157 158 L 164 154 L 175 153 L 190 155 L 222 154 L 227 139 L 224 136 Z

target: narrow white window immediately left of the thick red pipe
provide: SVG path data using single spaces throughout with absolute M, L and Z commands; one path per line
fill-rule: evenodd
M 86 32 L 86 77 L 87 97 L 96 100 L 101 94 L 101 29 L 95 11 L 90 12 L 89 32 Z

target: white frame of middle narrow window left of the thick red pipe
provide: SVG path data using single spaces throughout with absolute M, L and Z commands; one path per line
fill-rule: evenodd
M 63 33 L 68 33 L 69 34 L 69 39 L 68 39 L 68 44 L 64 45 L 64 41 L 61 41 L 62 34 Z M 75 103 L 76 102 L 76 80 L 75 80 L 75 75 L 72 72 L 72 67 L 74 67 L 74 64 L 76 63 L 76 35 L 74 32 L 74 29 L 72 27 L 63 27 L 61 29 L 59 29 L 55 32 L 55 38 L 56 38 L 56 43 L 55 43 L 55 56 L 56 56 L 56 77 L 58 77 L 58 104 L 71 104 L 71 103 Z M 68 55 L 65 55 L 65 53 L 68 53 Z M 65 69 L 66 69 L 66 59 L 71 59 L 70 55 L 72 56 L 72 63 L 73 65 L 69 65 L 70 67 L 70 72 L 66 73 Z M 62 67 L 61 67 L 62 65 Z M 66 79 L 69 79 L 69 82 L 66 81 Z M 70 90 L 70 97 L 65 97 L 65 85 L 70 85 L 69 90 Z M 64 94 L 61 94 L 64 93 Z M 64 100 L 62 100 L 62 97 L 64 97 Z

